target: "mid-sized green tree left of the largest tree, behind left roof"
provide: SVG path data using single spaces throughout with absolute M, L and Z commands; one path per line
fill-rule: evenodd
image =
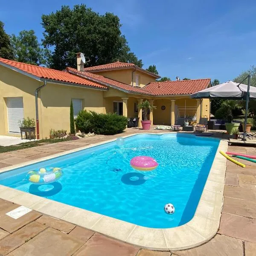
M 34 30 L 22 30 L 17 36 L 12 34 L 11 44 L 17 61 L 38 66 L 46 64 L 49 50 L 41 48 Z

